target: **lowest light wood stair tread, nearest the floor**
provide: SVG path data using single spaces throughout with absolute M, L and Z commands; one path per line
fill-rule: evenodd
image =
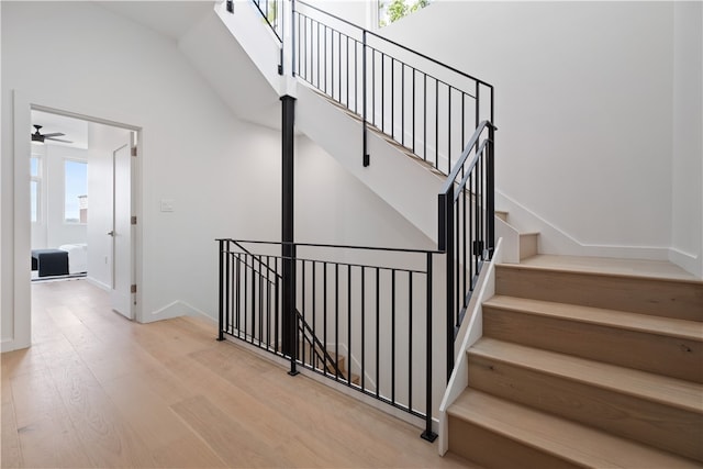
M 467 389 L 448 409 L 522 444 L 585 467 L 694 468 L 696 462 Z

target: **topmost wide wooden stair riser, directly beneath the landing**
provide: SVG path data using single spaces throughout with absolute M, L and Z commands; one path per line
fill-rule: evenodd
M 703 284 L 496 266 L 495 293 L 703 321 Z

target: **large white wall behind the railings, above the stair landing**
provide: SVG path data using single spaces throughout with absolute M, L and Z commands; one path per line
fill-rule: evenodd
M 672 3 L 438 1 L 381 32 L 495 86 L 503 194 L 582 246 L 668 257 Z

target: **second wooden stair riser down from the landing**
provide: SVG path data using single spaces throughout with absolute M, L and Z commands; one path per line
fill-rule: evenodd
M 483 306 L 483 335 L 703 383 L 703 342 Z M 703 337 L 702 337 L 703 339 Z

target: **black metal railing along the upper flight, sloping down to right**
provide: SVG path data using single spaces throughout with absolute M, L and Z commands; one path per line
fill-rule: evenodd
M 361 119 L 365 166 L 368 125 L 448 175 L 479 123 L 493 122 L 483 80 L 300 0 L 291 29 L 293 72 Z

